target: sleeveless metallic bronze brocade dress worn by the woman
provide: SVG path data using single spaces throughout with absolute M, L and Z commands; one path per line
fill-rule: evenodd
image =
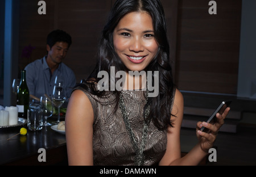
M 118 107 L 116 112 L 113 111 L 116 106 L 115 96 L 108 94 L 98 97 L 89 94 L 82 87 L 76 87 L 75 89 L 84 91 L 93 107 L 94 165 L 134 165 L 135 151 L 123 121 L 121 109 Z M 144 125 L 143 107 L 146 104 L 145 91 L 122 92 L 130 127 L 133 130 L 136 141 L 141 144 Z M 158 165 L 166 151 L 166 146 L 166 130 L 158 130 L 151 121 L 148 126 L 146 145 L 143 151 L 143 165 Z

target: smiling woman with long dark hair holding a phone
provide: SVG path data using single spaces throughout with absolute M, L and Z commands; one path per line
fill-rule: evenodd
M 214 125 L 197 123 L 199 142 L 181 158 L 183 96 L 172 79 L 160 1 L 117 0 L 97 57 L 96 68 L 69 100 L 65 118 L 69 165 L 197 165 L 207 155 L 229 108 L 216 115 Z M 118 78 L 118 71 L 125 76 Z M 129 71 L 145 71 L 147 84 L 143 75 Z M 118 85 L 121 78 L 124 82 Z M 150 78 L 158 86 L 155 96 L 150 96 Z M 122 90 L 113 89 L 113 83 Z M 201 132 L 203 126 L 210 133 Z

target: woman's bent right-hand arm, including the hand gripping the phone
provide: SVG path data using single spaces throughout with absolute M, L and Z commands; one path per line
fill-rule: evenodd
M 174 127 L 169 127 L 167 132 L 167 149 L 166 154 L 159 162 L 159 165 L 198 165 L 201 160 L 208 154 L 208 150 L 213 146 L 216 140 L 218 129 L 224 124 L 224 119 L 230 108 L 226 108 L 224 113 L 220 115 L 217 113 L 216 117 L 218 123 L 205 124 L 202 122 L 197 123 L 196 136 L 199 142 L 188 154 L 181 158 L 180 154 L 180 128 L 183 119 L 183 109 L 184 101 L 183 95 L 179 90 L 176 90 L 174 107 L 172 108 L 172 115 L 176 117 L 171 117 L 174 120 Z M 204 133 L 200 131 L 201 127 L 206 127 L 211 130 L 210 133 Z

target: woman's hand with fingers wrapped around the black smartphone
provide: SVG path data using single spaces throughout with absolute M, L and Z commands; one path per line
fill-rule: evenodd
M 208 150 L 213 146 L 214 141 L 216 140 L 218 130 L 224 124 L 224 119 L 229 113 L 230 108 L 226 108 L 225 111 L 220 115 L 220 113 L 216 114 L 217 122 L 214 124 L 209 124 L 206 122 L 199 121 L 196 127 L 196 136 L 199 139 L 199 143 L 201 149 L 208 153 Z M 208 128 L 209 132 L 201 132 L 200 129 L 202 127 Z

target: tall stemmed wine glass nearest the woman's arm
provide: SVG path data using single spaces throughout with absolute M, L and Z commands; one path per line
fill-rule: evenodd
M 53 106 L 58 108 L 58 119 L 55 124 L 60 123 L 60 107 L 63 105 L 66 99 L 65 88 L 63 82 L 55 83 L 52 93 Z

